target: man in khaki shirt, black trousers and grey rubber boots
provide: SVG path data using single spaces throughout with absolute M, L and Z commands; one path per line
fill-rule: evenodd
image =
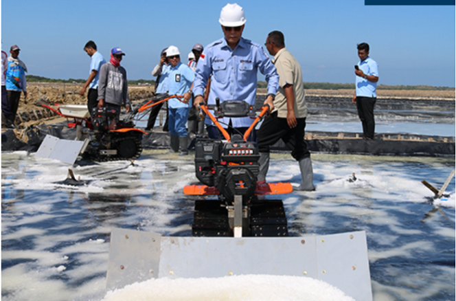
M 274 100 L 274 110 L 265 118 L 258 131 L 260 148 L 260 173 L 258 181 L 266 181 L 269 169 L 269 146 L 282 139 L 290 148 L 291 155 L 299 161 L 301 185 L 295 190 L 315 190 L 310 153 L 304 141 L 307 107 L 304 97 L 301 66 L 285 48 L 284 34 L 279 31 L 269 33 L 266 49 L 274 56 L 273 63 L 279 74 L 280 89 Z

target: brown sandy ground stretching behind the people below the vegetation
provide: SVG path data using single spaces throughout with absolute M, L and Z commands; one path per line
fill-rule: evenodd
M 28 97 L 21 96 L 18 112 L 33 112 L 37 109 L 43 109 L 43 102 L 48 104 L 87 104 L 87 93 L 80 96 L 79 91 L 82 84 L 61 84 L 61 83 L 38 83 L 30 82 L 27 85 Z M 128 86 L 128 95 L 132 102 L 152 97 L 154 87 L 147 86 Z M 266 89 L 258 89 L 258 93 L 266 93 Z M 455 90 L 453 91 L 424 91 L 424 90 L 378 90 L 378 98 L 410 98 L 410 99 L 444 99 L 455 101 Z M 338 89 L 338 90 L 320 90 L 308 89 L 306 96 L 326 96 L 326 97 L 352 97 L 354 90 Z M 64 121 L 64 118 L 54 116 L 52 118 L 44 118 L 41 120 L 32 120 L 23 122 L 19 128 L 23 129 L 27 125 L 52 124 Z M 2 129 L 2 133 L 5 129 Z

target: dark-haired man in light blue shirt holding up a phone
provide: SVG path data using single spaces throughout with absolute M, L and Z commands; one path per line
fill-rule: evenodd
M 363 138 L 374 140 L 374 105 L 377 100 L 378 64 L 369 57 L 369 44 L 358 44 L 360 61 L 355 65 L 356 91 L 352 102 L 356 104 L 358 116 L 363 124 Z

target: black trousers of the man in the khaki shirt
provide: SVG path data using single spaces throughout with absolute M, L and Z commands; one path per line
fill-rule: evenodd
M 306 118 L 296 118 L 296 121 L 297 126 L 290 129 L 286 118 L 277 117 L 277 111 L 266 117 L 257 133 L 260 153 L 269 153 L 269 146 L 282 139 L 290 148 L 291 155 L 296 161 L 310 157 L 310 152 L 304 141 Z

